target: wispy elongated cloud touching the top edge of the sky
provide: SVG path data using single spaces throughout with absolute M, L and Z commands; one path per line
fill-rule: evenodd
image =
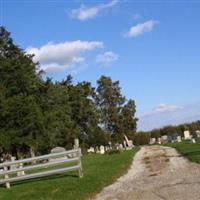
M 113 0 L 107 4 L 100 4 L 94 7 L 87 7 L 81 5 L 80 8 L 72 10 L 69 15 L 72 18 L 78 19 L 80 21 L 85 21 L 94 18 L 99 12 L 111 8 L 118 3 L 118 0 Z

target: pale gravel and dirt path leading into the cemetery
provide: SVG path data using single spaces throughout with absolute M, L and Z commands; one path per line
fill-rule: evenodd
M 128 173 L 95 200 L 200 200 L 200 165 L 175 149 L 148 146 L 136 154 Z

